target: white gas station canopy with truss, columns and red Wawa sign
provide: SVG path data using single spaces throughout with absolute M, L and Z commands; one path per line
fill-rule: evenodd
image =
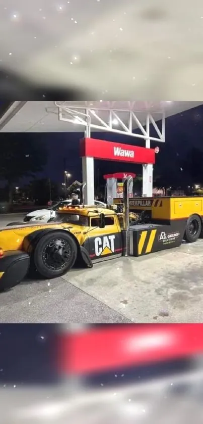
M 81 102 L 13 102 L 5 114 L 0 118 L 0 131 L 2 132 L 84 132 L 87 143 L 91 142 L 92 131 L 106 131 L 128 135 L 132 138 L 140 138 L 145 142 L 145 152 L 142 161 L 134 149 L 136 146 L 118 145 L 126 155 L 119 160 L 131 160 L 143 165 L 143 196 L 152 197 L 153 193 L 153 163 L 154 160 L 146 160 L 150 152 L 151 141 L 156 143 L 165 142 L 165 118 L 181 113 L 188 109 L 201 105 L 202 102 L 144 102 L 144 101 L 81 101 Z M 161 128 L 157 122 L 161 120 Z M 151 133 L 152 126 L 156 135 Z M 139 129 L 139 132 L 134 130 Z M 88 141 L 89 140 L 89 141 Z M 94 152 L 87 151 L 82 154 L 83 181 L 86 181 L 85 202 L 94 203 L 94 158 L 111 158 L 116 160 L 112 143 L 102 142 L 102 146 L 108 147 L 107 156 L 101 155 L 99 140 L 93 140 Z M 115 145 L 116 143 L 114 143 Z M 136 140 L 134 140 L 136 145 Z M 110 146 L 112 145 L 112 147 Z M 91 148 L 92 149 L 92 148 Z M 96 149 L 96 152 L 95 152 Z M 128 149 L 127 151 L 123 149 Z M 87 149 L 86 149 L 87 150 Z M 120 150 L 119 150 L 120 151 Z M 115 158 L 116 154 L 116 158 Z M 132 157 L 131 157 L 132 156 Z M 135 160 L 134 160 L 135 158 Z

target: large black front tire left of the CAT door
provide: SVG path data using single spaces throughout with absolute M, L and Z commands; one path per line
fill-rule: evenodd
M 73 237 L 65 231 L 45 234 L 37 243 L 34 267 L 44 278 L 55 278 L 71 269 L 77 259 L 78 248 Z

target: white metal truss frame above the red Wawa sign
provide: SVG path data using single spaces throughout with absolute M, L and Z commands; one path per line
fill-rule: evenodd
M 165 113 L 156 112 L 153 113 L 159 114 L 160 120 L 162 120 L 162 129 L 158 128 L 154 117 L 152 116 L 151 111 L 136 111 L 129 108 L 129 110 L 115 109 L 113 108 L 90 108 L 73 105 L 73 102 L 54 102 L 55 106 L 58 108 L 58 118 L 60 121 L 70 122 L 77 125 L 82 125 L 85 127 L 85 133 L 87 137 L 91 136 L 91 129 L 98 129 L 99 131 L 109 131 L 117 134 L 129 135 L 131 137 L 140 138 L 146 140 L 146 147 L 150 147 L 150 141 L 164 143 L 165 142 Z M 107 112 L 108 119 L 105 122 L 100 116 L 99 112 Z M 138 113 L 145 112 L 146 114 L 146 125 L 144 126 L 139 118 Z M 123 119 L 119 116 L 120 113 L 127 113 L 127 123 L 123 122 Z M 67 115 L 65 117 L 64 115 Z M 92 117 L 98 122 L 94 124 L 92 122 Z M 122 127 L 122 129 L 115 128 L 114 120 Z M 150 124 L 154 127 L 157 137 L 153 137 L 150 134 Z M 137 134 L 133 132 L 134 129 L 140 129 L 142 134 Z

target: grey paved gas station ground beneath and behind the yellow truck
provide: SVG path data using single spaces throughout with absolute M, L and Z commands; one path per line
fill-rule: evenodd
M 0 216 L 0 225 L 22 215 Z M 202 322 L 203 240 L 26 280 L 0 294 L 0 322 Z

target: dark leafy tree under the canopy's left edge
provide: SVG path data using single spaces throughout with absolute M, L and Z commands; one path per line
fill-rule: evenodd
M 1 134 L 0 179 L 7 181 L 9 203 L 13 201 L 13 187 L 22 177 L 33 177 L 43 170 L 48 152 L 42 140 L 26 139 L 20 133 Z

